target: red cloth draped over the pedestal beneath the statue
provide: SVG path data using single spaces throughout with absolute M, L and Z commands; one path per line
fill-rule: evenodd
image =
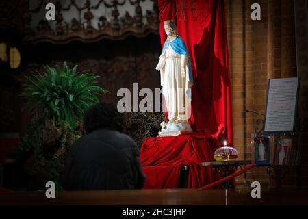
M 200 188 L 218 179 L 216 172 L 202 166 L 213 161 L 216 141 L 203 134 L 146 138 L 140 162 L 146 182 L 144 189 L 178 188 L 181 167 L 188 166 L 188 188 Z

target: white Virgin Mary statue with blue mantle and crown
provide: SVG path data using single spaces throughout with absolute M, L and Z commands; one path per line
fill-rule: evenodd
M 192 131 L 189 124 L 193 85 L 190 55 L 183 39 L 177 34 L 175 21 L 164 21 L 168 38 L 156 70 L 160 70 L 162 94 L 168 110 L 168 123 L 162 133 Z

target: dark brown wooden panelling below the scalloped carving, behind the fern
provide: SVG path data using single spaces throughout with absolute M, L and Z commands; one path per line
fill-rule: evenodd
M 103 40 L 92 44 L 71 42 L 63 45 L 49 43 L 24 45 L 23 73 L 42 71 L 43 64 L 62 66 L 78 65 L 77 70 L 89 70 L 99 75 L 99 85 L 110 91 L 102 99 L 116 103 L 120 88 L 132 90 L 133 83 L 142 88 L 160 88 L 159 72 L 155 66 L 161 53 L 159 36 L 150 34 L 145 38 L 129 37 L 125 40 Z

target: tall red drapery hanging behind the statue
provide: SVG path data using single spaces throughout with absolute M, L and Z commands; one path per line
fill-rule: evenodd
M 223 0 L 159 0 L 160 36 L 164 21 L 175 20 L 192 60 L 192 116 L 197 131 L 233 145 L 231 87 Z

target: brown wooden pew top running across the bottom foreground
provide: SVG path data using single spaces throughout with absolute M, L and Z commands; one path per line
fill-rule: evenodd
M 308 192 L 251 192 L 228 190 L 228 205 L 308 205 Z M 0 205 L 225 205 L 225 190 L 101 190 L 59 191 L 46 198 L 44 191 L 0 192 Z

